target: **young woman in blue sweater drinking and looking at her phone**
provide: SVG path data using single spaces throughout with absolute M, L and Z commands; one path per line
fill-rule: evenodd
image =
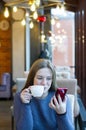
M 44 86 L 41 97 L 33 97 L 32 85 Z M 38 59 L 32 65 L 26 84 L 14 97 L 16 130 L 74 130 L 71 103 L 55 94 L 56 73 L 49 60 Z

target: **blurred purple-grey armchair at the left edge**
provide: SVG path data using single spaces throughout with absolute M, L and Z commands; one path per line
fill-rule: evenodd
M 0 98 L 10 98 L 11 96 L 10 81 L 11 81 L 10 74 L 3 73 L 2 82 L 0 84 Z

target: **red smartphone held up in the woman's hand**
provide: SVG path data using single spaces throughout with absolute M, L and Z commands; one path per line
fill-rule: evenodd
M 62 101 L 65 98 L 65 94 L 67 93 L 68 88 L 57 88 L 55 92 L 56 99 L 58 100 L 58 94 L 60 95 Z

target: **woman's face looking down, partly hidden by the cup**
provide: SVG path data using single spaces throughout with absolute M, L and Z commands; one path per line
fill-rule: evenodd
M 42 68 L 36 72 L 34 85 L 43 85 L 44 94 L 48 92 L 52 84 L 52 72 L 49 68 Z

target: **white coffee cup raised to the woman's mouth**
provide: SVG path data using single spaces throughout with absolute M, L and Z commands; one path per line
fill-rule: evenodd
M 30 88 L 33 97 L 41 97 L 44 92 L 44 86 L 33 85 Z

